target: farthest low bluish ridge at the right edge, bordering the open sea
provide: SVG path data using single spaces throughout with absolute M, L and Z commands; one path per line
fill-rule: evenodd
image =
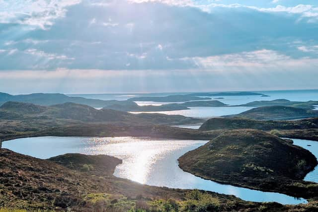
M 264 106 L 291 106 L 291 107 L 299 107 L 304 109 L 315 109 L 315 105 L 318 105 L 318 101 L 307 101 L 307 102 L 299 102 L 299 101 L 289 101 L 287 99 L 275 99 L 270 101 L 253 101 L 242 105 L 243 107 L 264 107 Z

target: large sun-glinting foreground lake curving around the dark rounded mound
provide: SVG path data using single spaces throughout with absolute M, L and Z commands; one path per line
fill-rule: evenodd
M 154 140 L 148 138 L 38 137 L 3 142 L 2 147 L 39 158 L 64 153 L 108 154 L 123 159 L 115 176 L 139 183 L 181 189 L 202 189 L 255 202 L 304 203 L 283 194 L 261 192 L 204 180 L 178 167 L 177 158 L 207 141 Z

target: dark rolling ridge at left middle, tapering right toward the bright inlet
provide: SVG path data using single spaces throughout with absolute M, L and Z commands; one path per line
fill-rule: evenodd
M 52 106 L 7 102 L 0 107 L 1 119 L 6 120 L 74 120 L 80 122 L 111 122 L 125 124 L 174 124 L 197 123 L 201 120 L 180 115 L 131 114 L 110 109 L 67 102 Z

